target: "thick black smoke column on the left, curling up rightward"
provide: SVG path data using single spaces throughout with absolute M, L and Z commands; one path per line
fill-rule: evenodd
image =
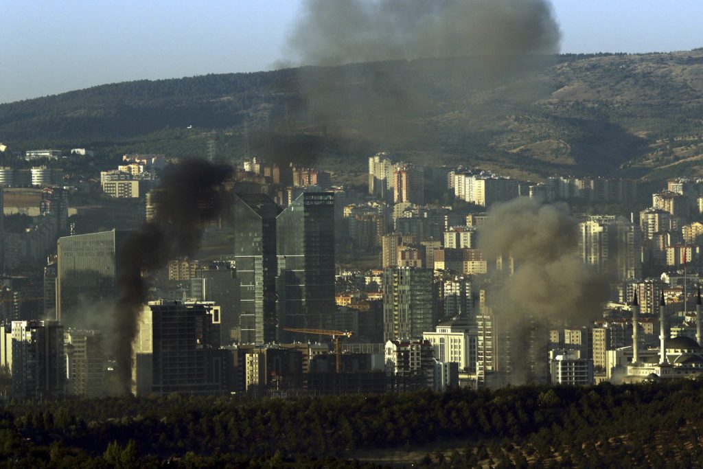
M 120 299 L 115 308 L 115 359 L 125 394 L 131 392 L 132 342 L 147 300 L 144 274 L 166 266 L 174 257 L 195 254 L 204 225 L 229 206 L 222 183 L 231 173 L 229 166 L 204 160 L 186 160 L 167 168 L 155 192 L 155 219 L 124 242 L 117 259 Z

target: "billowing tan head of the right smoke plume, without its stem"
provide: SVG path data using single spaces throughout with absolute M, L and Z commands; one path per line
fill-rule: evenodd
M 578 222 L 566 204 L 542 205 L 517 198 L 497 205 L 479 228 L 479 249 L 487 259 L 515 259 L 515 273 L 494 292 L 501 317 L 527 313 L 546 322 L 587 323 L 607 300 L 605 278 L 578 253 Z

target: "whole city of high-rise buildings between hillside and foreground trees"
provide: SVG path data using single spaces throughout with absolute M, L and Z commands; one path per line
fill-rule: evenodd
M 140 216 L 153 219 L 155 192 L 120 184 L 152 184 L 164 158 L 126 155 L 122 163 L 101 174 L 103 191 L 138 200 Z M 669 181 L 641 210 L 635 181 L 532 184 L 394 162 L 388 153 L 369 158 L 368 188 L 333 186 L 331 176 L 260 158 L 235 170 L 224 184 L 228 214 L 205 227 L 220 254 L 170 259 L 148 273 L 131 343 L 132 392 L 283 396 L 703 371 L 693 312 L 703 244 L 698 181 Z M 112 309 L 129 230 L 73 234 L 71 190 L 4 188 L 4 212 L 37 221 L 2 230 L 5 265 L 36 269 L 48 256 L 40 282 L 0 285 L 0 365 L 13 382 L 4 392 L 18 398 L 117 389 Z M 515 300 L 509 321 L 496 314 L 498 304 L 506 309 L 496 285 L 521 264 L 510 252 L 487 256 L 482 226 L 491 207 L 520 195 L 627 213 L 572 216 L 574 257 L 610 285 L 602 311 L 548 324 Z M 40 241 L 30 245 L 32 236 Z M 41 314 L 25 314 L 23 297 L 40 299 Z M 669 368 L 657 368 L 662 355 Z

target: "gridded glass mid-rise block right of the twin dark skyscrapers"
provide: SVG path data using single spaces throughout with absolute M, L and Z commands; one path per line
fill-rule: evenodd
M 383 271 L 383 340 L 417 339 L 434 328 L 432 269 Z

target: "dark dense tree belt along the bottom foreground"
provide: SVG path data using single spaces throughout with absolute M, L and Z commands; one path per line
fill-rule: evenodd
M 0 457 L 35 467 L 342 467 L 364 449 L 463 439 L 418 463 L 693 467 L 703 463 L 702 423 L 703 383 L 688 380 L 304 399 L 173 394 L 7 404 Z

